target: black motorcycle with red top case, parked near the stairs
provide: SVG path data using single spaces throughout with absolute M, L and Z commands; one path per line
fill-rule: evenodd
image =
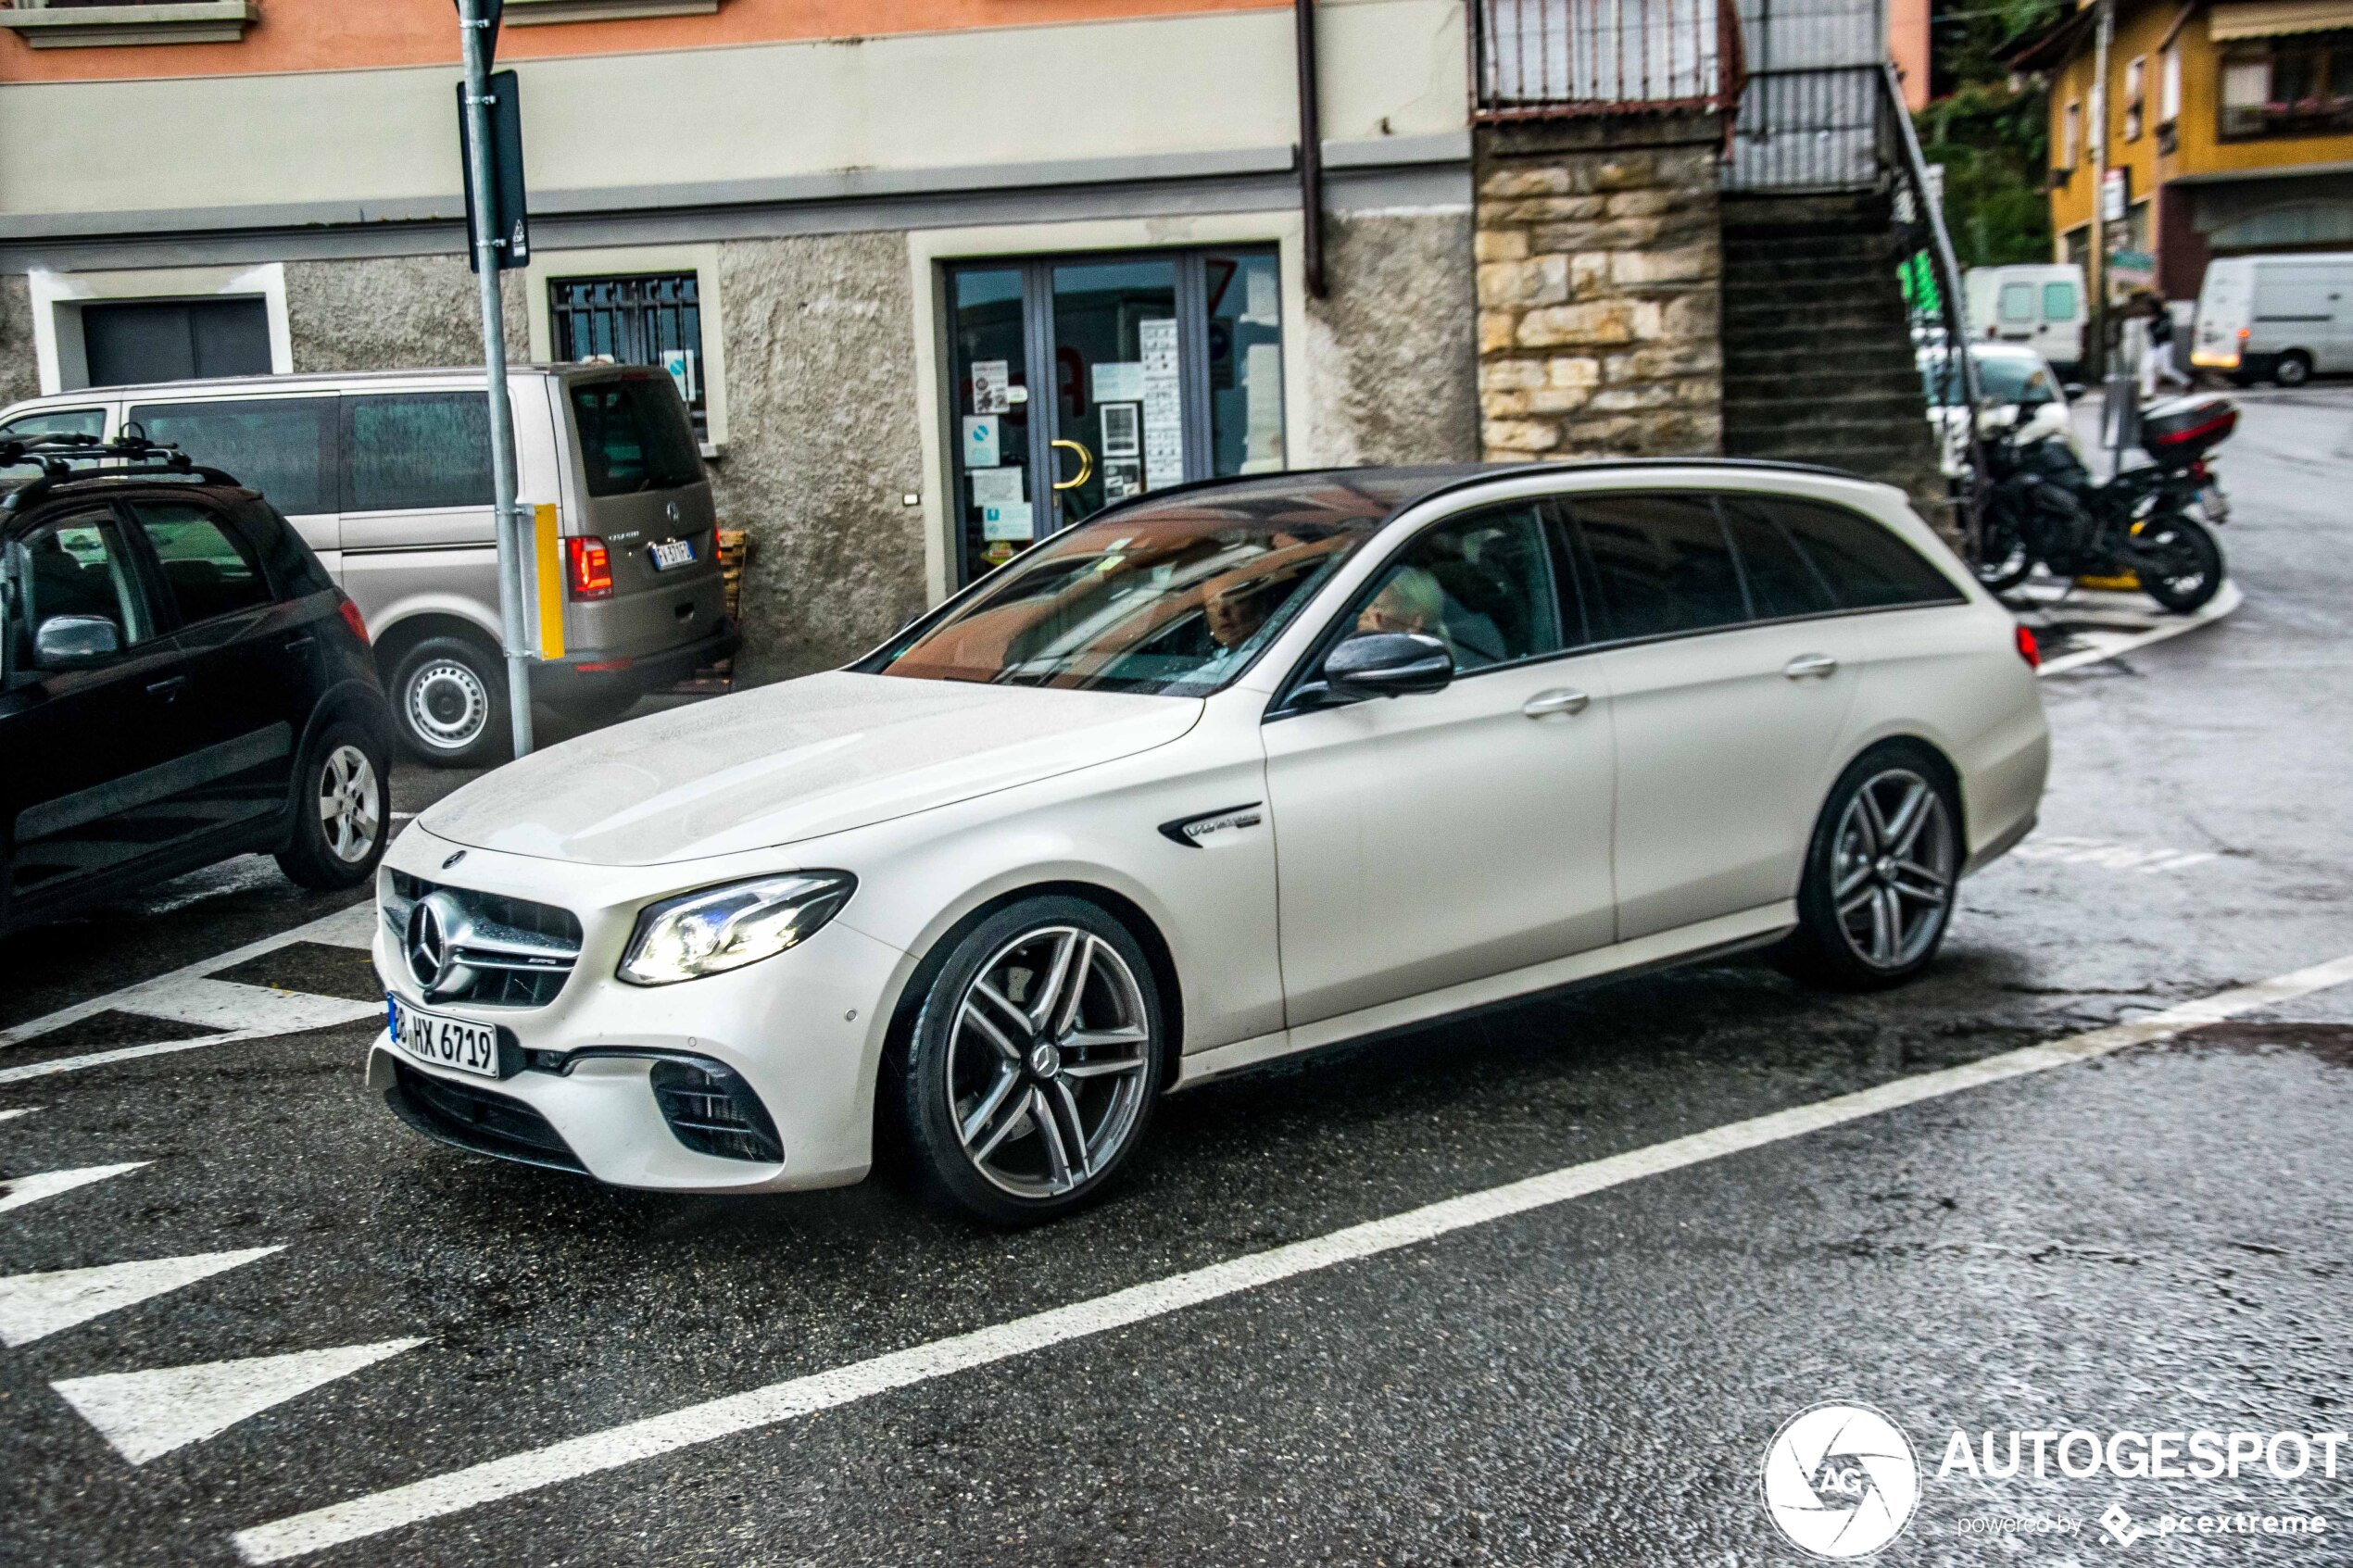
M 2238 428 L 2228 397 L 2174 397 L 2141 414 L 2148 463 L 2120 468 L 2101 484 L 2075 449 L 2064 402 L 2024 423 L 1986 421 L 1984 536 L 1977 581 L 2017 588 L 2042 562 L 2059 576 L 2139 578 L 2141 590 L 2174 614 L 2188 614 L 2221 590 L 2221 545 L 2212 524 L 2231 515 L 2207 454 Z

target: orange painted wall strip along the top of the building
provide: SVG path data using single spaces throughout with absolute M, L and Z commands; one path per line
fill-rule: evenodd
M 104 82 L 165 75 L 256 75 L 365 66 L 454 66 L 449 0 L 259 0 L 261 19 L 233 45 L 33 49 L 0 31 L 0 82 Z M 1056 21 L 1257 12 L 1285 0 L 722 0 L 713 16 L 567 21 L 499 35 L 499 61 L 642 54 L 807 38 L 953 33 Z

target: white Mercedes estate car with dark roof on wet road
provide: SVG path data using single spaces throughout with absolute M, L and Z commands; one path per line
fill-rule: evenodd
M 628 1187 L 1099 1194 L 1169 1088 L 1671 959 L 1925 969 L 2035 820 L 2033 639 L 1861 480 L 1219 480 L 384 860 L 414 1128 Z

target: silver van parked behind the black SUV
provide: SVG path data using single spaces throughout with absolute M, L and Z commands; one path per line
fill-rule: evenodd
M 732 654 L 711 482 L 668 374 L 527 364 L 508 374 L 508 400 L 518 501 L 555 508 L 565 576 L 565 654 L 532 665 L 532 696 L 609 722 Z M 172 381 L 0 409 L 0 440 L 125 425 L 226 468 L 285 512 L 367 618 L 419 759 L 504 757 L 482 371 Z

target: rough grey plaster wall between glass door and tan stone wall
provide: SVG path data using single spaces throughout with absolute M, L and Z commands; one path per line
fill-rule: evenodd
M 1332 212 L 1325 280 L 1299 346 L 1325 390 L 1306 461 L 1478 461 L 1471 214 Z

